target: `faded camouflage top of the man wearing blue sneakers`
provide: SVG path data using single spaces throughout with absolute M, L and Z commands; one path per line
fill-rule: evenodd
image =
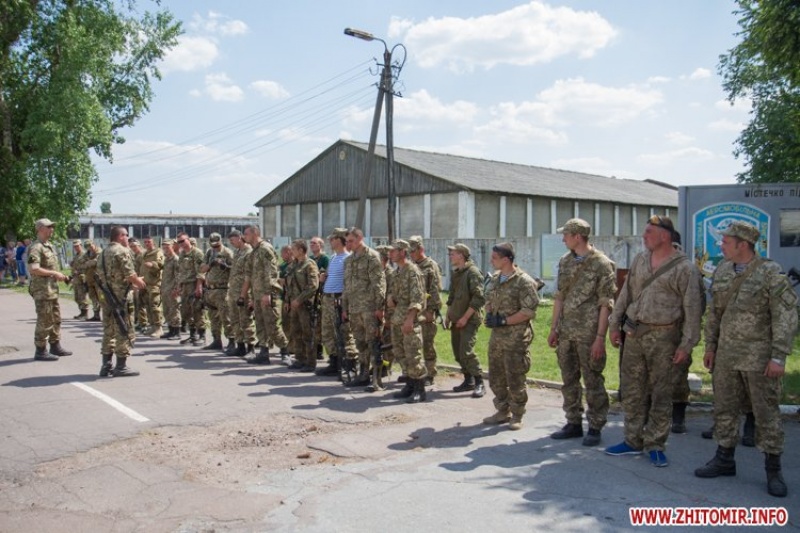
M 658 276 L 644 291 L 642 286 L 653 277 L 650 252 L 644 251 L 633 259 L 628 277 L 609 318 L 609 324 L 619 325 L 623 315 L 649 325 L 674 324 L 681 330 L 678 348 L 691 352 L 700 341 L 700 318 L 703 309 L 698 281 L 700 272 L 683 252 L 676 251 L 667 259 L 682 256 L 668 272 Z M 666 264 L 666 262 L 664 263 Z M 663 266 L 663 265 L 662 265 Z

